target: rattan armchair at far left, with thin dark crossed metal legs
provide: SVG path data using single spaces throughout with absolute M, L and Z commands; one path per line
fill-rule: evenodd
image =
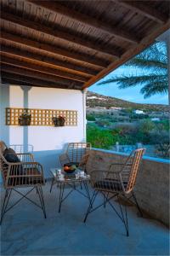
M 46 211 L 42 194 L 42 185 L 45 184 L 42 166 L 34 160 L 32 154 L 16 154 L 20 161 L 9 162 L 5 159 L 3 155 L 6 148 L 6 144 L 1 141 L 0 170 L 3 177 L 5 195 L 3 200 L 0 224 L 2 224 L 3 222 L 4 214 L 24 198 L 26 198 L 28 201 L 31 201 L 37 207 L 40 207 L 42 209 L 44 218 L 46 218 Z M 20 189 L 26 187 L 30 189 L 24 195 L 22 190 L 20 191 Z M 39 197 L 40 205 L 37 204 L 36 201 L 32 201 L 30 198 L 27 197 L 27 195 L 30 194 L 31 191 L 34 189 L 37 192 L 36 195 L 38 195 Z M 8 207 L 8 202 L 13 191 L 21 195 L 21 197 L 12 206 Z

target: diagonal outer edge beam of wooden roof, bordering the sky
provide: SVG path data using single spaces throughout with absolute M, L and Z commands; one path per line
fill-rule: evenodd
M 114 61 L 111 65 L 101 71 L 99 74 L 94 76 L 92 79 L 89 79 L 87 83 L 82 86 L 82 89 L 88 88 L 90 85 L 99 81 L 99 79 L 103 79 L 107 74 L 111 73 L 111 71 L 115 70 L 117 67 L 122 66 L 123 63 L 127 62 L 128 60 L 132 59 L 133 56 L 138 55 L 142 50 L 149 47 L 150 44 L 153 44 L 155 39 L 158 38 L 161 33 L 166 32 L 167 29 L 170 27 L 170 20 L 167 20 L 167 23 L 163 26 L 159 26 L 154 31 L 150 32 L 150 35 L 145 37 L 141 44 L 138 46 L 133 46 L 131 49 L 128 49 L 125 54 L 122 55 L 119 61 Z

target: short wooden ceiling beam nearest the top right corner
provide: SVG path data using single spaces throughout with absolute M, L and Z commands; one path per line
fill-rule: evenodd
M 144 15 L 145 17 L 149 18 L 150 20 L 155 20 L 158 23 L 165 23 L 168 19 L 164 14 L 160 11 L 154 9 L 151 4 L 150 6 L 146 2 L 141 1 L 122 1 L 122 0 L 112 0 L 116 3 L 120 3 L 122 6 L 127 7 L 128 9 L 132 9 L 139 13 L 140 15 Z

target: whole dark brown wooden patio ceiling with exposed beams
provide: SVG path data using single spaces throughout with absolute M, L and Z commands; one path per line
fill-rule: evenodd
M 83 90 L 170 27 L 170 2 L 1 2 L 1 79 Z

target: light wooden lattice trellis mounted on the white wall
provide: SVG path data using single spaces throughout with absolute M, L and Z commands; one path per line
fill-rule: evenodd
M 31 114 L 30 125 L 54 126 L 53 117 L 65 117 L 65 126 L 77 125 L 76 110 L 34 109 L 34 108 L 6 108 L 6 125 L 20 125 L 19 117 L 23 113 Z

